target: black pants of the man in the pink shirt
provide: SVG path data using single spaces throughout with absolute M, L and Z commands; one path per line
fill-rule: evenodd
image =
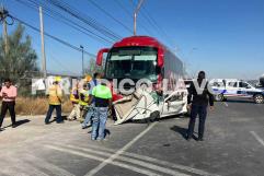
M 8 110 L 11 116 L 12 125 L 15 125 L 14 105 L 15 105 L 15 102 L 2 102 L 1 115 L 0 115 L 0 128 L 2 127 L 3 118 L 5 117 Z

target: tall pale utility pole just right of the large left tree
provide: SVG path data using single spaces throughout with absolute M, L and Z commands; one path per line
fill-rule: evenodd
M 44 24 L 43 24 L 42 7 L 39 7 L 39 21 L 41 21 L 41 37 L 42 37 L 42 71 L 43 71 L 43 77 L 46 79 L 47 78 L 47 69 L 46 69 L 46 54 L 45 54 Z

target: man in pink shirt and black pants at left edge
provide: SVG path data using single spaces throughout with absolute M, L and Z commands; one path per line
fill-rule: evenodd
M 1 107 L 1 115 L 0 115 L 0 131 L 3 122 L 3 118 L 5 117 L 7 112 L 9 110 L 11 120 L 12 120 L 12 128 L 15 128 L 15 97 L 18 95 L 18 90 L 10 79 L 4 80 L 4 86 L 1 89 L 0 98 L 2 98 L 2 107 Z

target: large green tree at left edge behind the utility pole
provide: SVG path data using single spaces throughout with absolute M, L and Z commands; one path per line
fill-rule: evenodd
M 0 78 L 10 78 L 14 82 L 25 79 L 28 73 L 38 72 L 37 55 L 32 48 L 32 39 L 24 35 L 25 28 L 19 24 L 8 36 L 9 50 L 4 52 L 4 40 L 0 37 Z

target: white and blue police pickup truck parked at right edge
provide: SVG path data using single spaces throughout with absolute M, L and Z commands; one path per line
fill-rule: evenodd
M 215 92 L 216 101 L 223 101 L 229 97 L 250 98 L 256 104 L 264 102 L 264 91 L 256 89 L 250 83 L 241 80 L 219 80 L 210 82 Z

